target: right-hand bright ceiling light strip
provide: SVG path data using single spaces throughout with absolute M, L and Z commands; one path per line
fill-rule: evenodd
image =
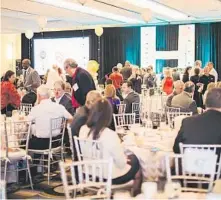
M 149 0 L 123 0 L 123 1 L 140 8 L 149 8 L 155 13 L 165 15 L 176 20 L 190 19 L 188 15 L 179 12 L 178 10 L 169 8 L 168 6 L 164 6 L 155 1 L 149 1 Z

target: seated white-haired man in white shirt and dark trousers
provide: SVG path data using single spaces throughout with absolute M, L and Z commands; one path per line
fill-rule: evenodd
M 72 116 L 64 106 L 50 100 L 49 89 L 45 85 L 41 85 L 37 89 L 37 96 L 38 105 L 33 107 L 29 114 L 29 119 L 35 123 L 35 130 L 29 141 L 29 149 L 43 150 L 49 148 L 51 119 L 64 117 L 72 121 Z M 53 139 L 61 137 L 60 132 L 52 134 Z

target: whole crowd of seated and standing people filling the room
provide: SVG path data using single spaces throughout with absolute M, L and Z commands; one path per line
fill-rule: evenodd
M 142 87 L 161 87 L 162 93 L 168 96 L 166 105 L 169 107 L 191 111 L 194 115 L 198 114 L 198 107 L 205 109 L 203 114 L 183 121 L 174 152 L 178 152 L 179 142 L 221 144 L 221 83 L 211 62 L 202 69 L 201 61 L 196 61 L 194 67 L 185 69 L 183 76 L 176 68 L 166 67 L 161 84 L 158 85 L 159 80 L 152 66 L 138 68 L 126 61 L 122 69 L 113 67 L 112 73 L 106 77 L 103 93 L 96 90 L 90 73 L 73 59 L 64 62 L 64 71 L 69 78 L 65 78 L 54 65 L 45 76 L 44 84 L 41 84 L 40 76 L 31 67 L 30 60 L 24 59 L 22 66 L 24 72 L 20 86 L 14 85 L 14 72 L 9 70 L 3 77 L 1 113 L 8 114 L 19 109 L 25 96 L 21 98 L 17 87 L 24 87 L 29 91 L 28 94 L 32 92 L 32 95 L 36 95 L 36 98 L 26 98 L 25 102 L 33 104 L 35 101 L 29 113 L 29 118 L 35 120 L 36 124 L 29 142 L 30 148 L 47 149 L 50 119 L 64 117 L 70 124 L 73 136 L 101 141 L 105 157 L 113 157 L 113 183 L 122 184 L 134 179 L 137 193 L 142 181 L 139 161 L 135 155 L 127 157 L 124 154 L 115 132 L 113 114 L 118 114 L 117 107 L 121 103 L 126 104 L 125 113 L 132 113 L 132 104 L 141 102 L 139 94 L 142 93 Z M 71 84 L 65 82 L 68 79 Z M 53 133 L 52 137 L 59 137 L 59 133 Z M 70 145 L 68 139 L 66 145 Z

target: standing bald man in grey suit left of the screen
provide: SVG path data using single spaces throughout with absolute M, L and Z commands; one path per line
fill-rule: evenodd
M 41 85 L 38 72 L 31 67 L 31 61 L 29 59 L 22 61 L 22 67 L 24 69 L 24 87 L 37 92 L 37 88 Z

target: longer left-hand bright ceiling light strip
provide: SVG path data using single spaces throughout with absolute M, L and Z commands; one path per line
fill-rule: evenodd
M 74 10 L 77 12 L 86 13 L 89 15 L 94 15 L 97 17 L 107 18 L 107 19 L 111 19 L 114 21 L 120 21 L 124 23 L 129 23 L 129 24 L 144 24 L 145 23 L 143 20 L 125 17 L 122 15 L 105 12 L 105 11 L 91 8 L 88 6 L 81 6 L 79 4 L 68 2 L 68 1 L 63 1 L 63 0 L 31 0 L 31 1 L 42 3 L 42 4 L 47 4 L 47 5 L 52 5 L 52 6 L 56 6 L 60 8 L 65 8 L 68 10 Z

